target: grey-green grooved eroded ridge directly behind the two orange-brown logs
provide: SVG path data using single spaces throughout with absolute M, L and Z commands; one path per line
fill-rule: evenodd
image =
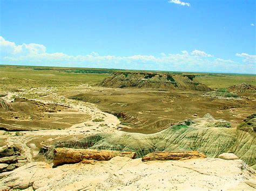
M 49 159 L 57 147 L 90 148 L 136 152 L 137 157 L 158 151 L 199 151 L 218 158 L 234 153 L 249 166 L 256 164 L 256 133 L 250 127 L 231 128 L 230 124 L 211 115 L 194 119 L 193 124 L 173 125 L 149 135 L 117 131 L 87 136 L 78 141 L 56 142 L 45 153 Z

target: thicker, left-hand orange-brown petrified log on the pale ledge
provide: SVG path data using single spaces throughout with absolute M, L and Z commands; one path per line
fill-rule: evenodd
M 55 148 L 53 152 L 53 165 L 72 164 L 83 160 L 110 160 L 117 156 L 134 159 L 136 153 L 110 150 Z

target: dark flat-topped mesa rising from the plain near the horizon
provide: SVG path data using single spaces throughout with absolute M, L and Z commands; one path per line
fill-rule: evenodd
M 193 89 L 209 91 L 211 88 L 194 81 L 194 75 L 164 73 L 118 72 L 106 77 L 101 86 L 112 88 L 153 88 L 153 89 Z

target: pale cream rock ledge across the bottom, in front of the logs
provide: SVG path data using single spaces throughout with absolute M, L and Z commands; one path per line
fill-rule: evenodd
M 92 160 L 91 160 L 92 161 Z M 32 162 L 0 175 L 1 189 L 255 190 L 253 170 L 220 158 L 147 161 L 114 157 L 52 168 Z

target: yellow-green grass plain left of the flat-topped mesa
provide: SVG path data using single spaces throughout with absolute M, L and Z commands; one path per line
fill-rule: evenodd
M 90 85 L 102 82 L 110 74 L 67 73 L 58 70 L 34 70 L 25 66 L 0 65 L 0 91 L 15 91 L 38 87 L 68 88 L 81 83 Z

